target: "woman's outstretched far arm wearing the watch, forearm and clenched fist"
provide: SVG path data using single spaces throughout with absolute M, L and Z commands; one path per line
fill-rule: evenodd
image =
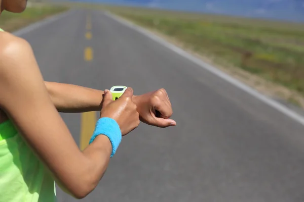
M 45 85 L 59 112 L 80 113 L 101 110 L 102 90 L 48 81 L 45 81 Z M 163 128 L 176 125 L 174 120 L 169 119 L 173 112 L 165 89 L 133 95 L 133 102 L 137 106 L 142 122 Z M 160 112 L 160 117 L 156 117 L 155 110 Z

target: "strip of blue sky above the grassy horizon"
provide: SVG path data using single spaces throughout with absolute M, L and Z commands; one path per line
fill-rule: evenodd
M 72 0 L 304 22 L 304 0 Z

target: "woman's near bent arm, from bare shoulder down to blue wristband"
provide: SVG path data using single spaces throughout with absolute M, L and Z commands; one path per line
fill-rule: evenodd
M 57 183 L 74 197 L 85 197 L 108 166 L 109 139 L 99 135 L 82 152 L 50 99 L 30 45 L 8 34 L 0 41 L 0 108 Z

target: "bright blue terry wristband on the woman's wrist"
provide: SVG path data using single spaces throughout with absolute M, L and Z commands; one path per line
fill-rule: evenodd
M 118 123 L 114 119 L 108 117 L 99 119 L 96 123 L 95 130 L 89 144 L 91 144 L 98 135 L 105 135 L 109 138 L 112 144 L 111 157 L 114 156 L 122 140 L 122 132 Z

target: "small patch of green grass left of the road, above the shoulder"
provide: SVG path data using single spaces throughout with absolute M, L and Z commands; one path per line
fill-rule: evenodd
M 6 31 L 14 31 L 35 21 L 66 11 L 66 6 L 41 5 L 28 7 L 23 13 L 15 14 L 4 11 L 0 16 L 0 27 Z

